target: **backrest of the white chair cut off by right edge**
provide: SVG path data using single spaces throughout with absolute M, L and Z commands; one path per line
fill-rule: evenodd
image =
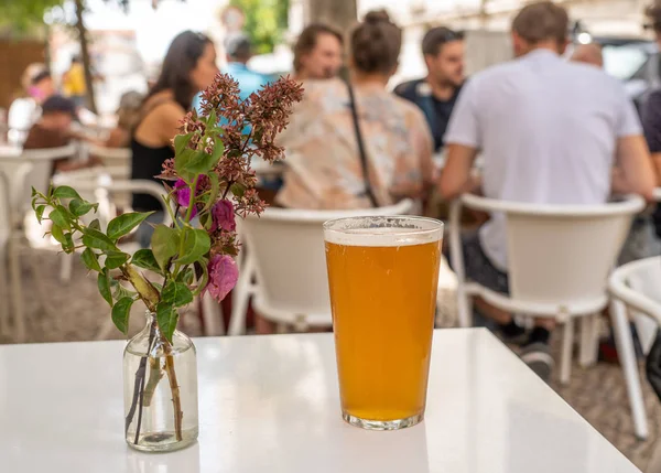
M 610 275 L 610 293 L 629 305 L 643 353 L 649 353 L 661 325 L 661 257 L 639 259 Z

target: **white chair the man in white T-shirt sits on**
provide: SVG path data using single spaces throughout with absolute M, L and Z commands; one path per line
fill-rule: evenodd
M 460 207 L 505 214 L 510 295 L 466 281 Z M 596 363 L 598 312 L 608 303 L 607 278 L 640 197 L 597 206 L 538 205 L 463 195 L 451 207 L 451 259 L 457 273 L 462 326 L 472 324 L 472 297 L 513 314 L 553 316 L 564 324 L 560 380 L 570 381 L 574 318 L 582 318 L 581 364 Z

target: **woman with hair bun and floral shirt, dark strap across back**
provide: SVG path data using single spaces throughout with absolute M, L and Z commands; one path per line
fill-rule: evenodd
M 307 80 L 281 135 L 285 207 L 342 209 L 423 198 L 433 185 L 433 141 L 422 112 L 386 87 L 397 71 L 401 30 L 370 12 L 350 35 L 350 83 Z

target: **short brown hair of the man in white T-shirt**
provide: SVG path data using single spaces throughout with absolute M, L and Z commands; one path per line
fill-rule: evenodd
M 552 1 L 531 3 L 517 14 L 512 31 L 531 44 L 542 41 L 567 41 L 570 15 L 567 11 Z

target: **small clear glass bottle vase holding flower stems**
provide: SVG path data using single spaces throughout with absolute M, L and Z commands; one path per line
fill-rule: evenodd
M 172 344 L 154 314 L 124 350 L 127 443 L 142 451 L 183 449 L 197 440 L 197 355 L 193 341 L 175 331 Z

